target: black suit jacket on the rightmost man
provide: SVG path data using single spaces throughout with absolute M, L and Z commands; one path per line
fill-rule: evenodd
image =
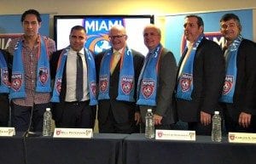
M 237 52 L 236 88 L 232 109 L 230 110 L 232 116 L 238 116 L 241 112 L 256 115 L 255 64 L 256 44 L 255 42 L 243 39 Z

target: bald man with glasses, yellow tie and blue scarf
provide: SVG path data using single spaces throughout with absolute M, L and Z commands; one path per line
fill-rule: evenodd
M 137 79 L 144 57 L 127 47 L 127 38 L 124 26 L 114 25 L 109 31 L 112 48 L 96 56 L 100 133 L 138 132 Z

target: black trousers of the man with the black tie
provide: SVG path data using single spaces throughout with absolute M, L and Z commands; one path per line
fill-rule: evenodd
M 61 102 L 53 105 L 55 126 L 93 128 L 96 118 L 96 106 L 90 106 L 89 102 L 89 100 Z

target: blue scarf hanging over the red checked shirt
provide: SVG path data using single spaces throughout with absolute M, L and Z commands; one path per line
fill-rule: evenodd
M 49 54 L 47 54 L 47 46 L 45 45 L 44 38 L 39 36 L 40 39 L 40 54 L 38 59 L 37 70 L 37 85 L 36 91 L 49 93 L 50 87 L 50 73 L 49 73 Z M 16 43 L 12 71 L 12 83 L 10 88 L 9 99 L 25 98 L 25 75 L 22 54 L 22 41 Z M 20 62 L 21 61 L 21 62 Z

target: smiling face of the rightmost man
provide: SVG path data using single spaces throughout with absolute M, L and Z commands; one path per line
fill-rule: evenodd
M 239 36 L 241 31 L 240 25 L 236 20 L 227 20 L 220 22 L 220 32 L 227 41 L 234 41 Z

